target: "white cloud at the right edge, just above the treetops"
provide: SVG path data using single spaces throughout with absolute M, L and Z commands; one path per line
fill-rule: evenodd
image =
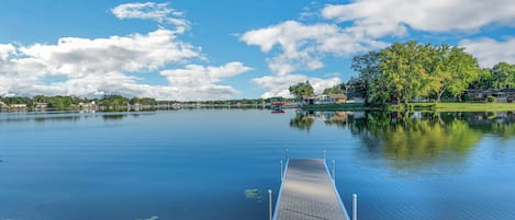
M 475 56 L 483 68 L 492 68 L 501 61 L 515 63 L 515 50 L 513 49 L 515 48 L 515 37 L 510 37 L 504 42 L 492 38 L 463 39 L 459 42 L 459 46 Z

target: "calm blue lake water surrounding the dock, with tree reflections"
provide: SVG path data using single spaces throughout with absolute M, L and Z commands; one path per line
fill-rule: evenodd
M 513 113 L 0 113 L 0 220 L 266 220 L 284 149 L 360 220 L 515 219 Z

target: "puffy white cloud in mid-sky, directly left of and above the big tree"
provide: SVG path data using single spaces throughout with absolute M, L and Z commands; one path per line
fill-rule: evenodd
M 239 37 L 247 45 L 259 46 L 270 53 L 276 46 L 279 55 L 268 59 L 269 68 L 279 74 L 299 69 L 314 70 L 324 67 L 325 54 L 344 57 L 354 53 L 383 47 L 380 42 L 356 35 L 335 24 L 302 24 L 287 21 L 277 25 L 253 30 Z

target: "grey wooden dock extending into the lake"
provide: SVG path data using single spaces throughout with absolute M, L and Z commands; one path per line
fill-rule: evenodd
M 287 162 L 273 220 L 349 220 L 324 159 Z

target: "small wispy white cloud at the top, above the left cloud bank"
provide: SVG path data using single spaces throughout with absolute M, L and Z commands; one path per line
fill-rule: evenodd
M 168 3 L 125 3 L 111 9 L 111 12 L 119 19 L 154 20 L 161 24 L 171 24 L 180 33 L 190 26 L 184 13 L 169 8 Z

